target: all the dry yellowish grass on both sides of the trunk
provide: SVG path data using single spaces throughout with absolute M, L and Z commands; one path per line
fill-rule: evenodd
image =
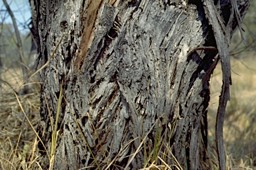
M 231 102 L 227 106 L 225 119 L 225 147 L 227 169 L 256 169 L 256 62 L 253 57 L 232 60 L 233 86 Z M 248 68 L 251 67 L 251 68 Z M 236 74 L 235 74 L 235 73 Z M 13 88 L 22 82 L 19 70 L 7 70 L 2 78 Z M 237 75 L 239 74 L 239 75 Z M 215 151 L 215 115 L 221 89 L 221 69 L 217 66 L 211 82 L 211 101 L 209 103 L 209 153 L 213 168 L 217 169 Z M 17 90 L 19 91 L 19 89 Z M 3 86 L 0 99 L 0 169 L 41 169 L 41 156 L 37 149 L 37 138 L 9 86 Z M 32 86 L 31 93 L 19 96 L 25 114 L 36 129 L 39 122 L 39 88 Z M 158 159 L 161 160 L 162 157 Z M 214 164 L 216 162 L 216 165 Z M 145 169 L 168 167 L 157 165 L 154 161 Z

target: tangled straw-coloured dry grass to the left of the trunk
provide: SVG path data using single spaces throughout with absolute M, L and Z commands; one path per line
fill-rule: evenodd
M 19 70 L 6 70 L 2 78 L 13 88 L 21 85 Z M 0 99 L 0 169 L 40 169 L 37 138 L 9 85 L 3 83 Z M 39 123 L 39 90 L 31 88 L 31 93 L 19 96 L 19 100 L 36 128 Z

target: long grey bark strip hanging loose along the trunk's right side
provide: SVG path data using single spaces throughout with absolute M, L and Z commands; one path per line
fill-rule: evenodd
M 231 0 L 231 15 L 229 17 L 229 21 L 225 27 L 225 23 L 223 23 L 223 19 L 219 15 L 219 12 L 215 8 L 214 2 L 212 0 L 203 0 L 203 5 L 205 9 L 205 15 L 209 20 L 209 24 L 213 28 L 213 33 L 215 35 L 215 41 L 217 43 L 217 48 L 219 51 L 219 57 L 221 58 L 221 69 L 223 72 L 223 85 L 221 90 L 221 96 L 219 96 L 219 107 L 217 110 L 217 118 L 216 118 L 216 144 L 217 144 L 217 152 L 219 158 L 219 169 L 225 169 L 225 149 L 223 143 L 223 124 L 225 118 L 225 109 L 227 106 L 227 101 L 230 100 L 229 94 L 229 84 L 231 85 L 231 65 L 229 58 L 229 41 L 232 36 L 232 22 L 236 17 L 237 26 L 241 31 L 241 16 L 237 7 L 237 2 L 235 0 Z M 249 1 L 247 1 L 248 3 Z M 234 16 L 234 10 L 235 15 Z M 242 34 L 242 33 L 241 33 Z

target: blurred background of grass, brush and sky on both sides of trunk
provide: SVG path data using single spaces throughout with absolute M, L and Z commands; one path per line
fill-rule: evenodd
M 30 10 L 28 1 L 17 3 L 13 0 L 11 3 L 18 6 L 16 10 L 21 12 L 19 15 Z M 233 85 L 224 127 L 227 169 L 256 169 L 255 8 L 256 1 L 251 1 L 251 7 L 243 21 L 243 36 L 247 46 L 241 41 L 239 31 L 233 35 L 230 45 Z M 16 14 L 15 18 L 23 44 L 23 60 L 20 58 L 21 51 L 17 46 L 15 28 L 11 20 L 8 20 L 9 13 L 5 5 L 0 3 L 0 169 L 40 169 L 42 162 L 36 147 L 37 137 L 25 118 L 27 116 L 33 127 L 37 128 L 40 120 L 39 79 L 35 76 L 21 86 L 35 72 L 37 52 L 32 48 L 31 19 L 23 16 L 25 20 L 19 21 L 19 15 Z M 27 70 L 26 75 L 22 68 Z M 221 66 L 218 64 L 211 79 L 208 112 L 208 149 L 213 169 L 217 169 L 215 116 L 221 84 Z M 18 94 L 21 104 L 17 102 L 15 93 Z

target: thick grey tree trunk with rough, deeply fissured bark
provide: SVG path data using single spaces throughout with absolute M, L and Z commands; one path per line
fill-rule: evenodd
M 177 2 L 31 1 L 43 66 L 39 133 L 48 153 L 58 131 L 46 167 L 139 169 L 163 159 L 172 168 L 211 168 L 215 32 L 201 1 Z M 227 23 L 231 2 L 218 2 Z M 237 4 L 243 17 L 249 1 Z M 234 17 L 232 33 L 236 27 Z

